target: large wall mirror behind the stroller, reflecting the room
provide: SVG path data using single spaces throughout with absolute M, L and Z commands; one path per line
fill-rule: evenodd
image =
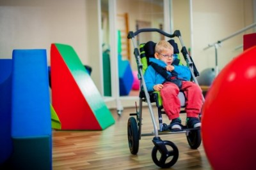
M 163 0 L 118 0 L 116 2 L 116 32 L 118 34 L 118 73 L 120 96 L 137 96 L 139 94 L 138 78 L 137 78 L 137 64 L 134 59 L 134 46 L 131 40 L 127 39 L 129 31 L 137 31 L 142 28 L 164 28 L 164 15 L 173 20 L 172 28 L 180 29 L 184 34 L 185 44 L 190 46 L 190 22 L 189 22 L 189 0 L 173 0 L 170 1 L 172 10 L 170 16 L 164 13 Z M 116 73 L 110 73 L 109 61 L 109 1 L 101 0 L 101 16 L 102 16 L 102 57 L 103 57 L 103 74 L 104 74 L 104 96 L 111 96 L 111 76 Z M 171 11 L 171 10 L 170 10 Z M 172 33 L 172 32 L 170 32 Z M 185 38 L 186 36 L 186 38 Z M 157 32 L 145 32 L 136 37 L 137 45 L 140 43 L 147 43 L 147 41 L 157 42 L 164 39 Z

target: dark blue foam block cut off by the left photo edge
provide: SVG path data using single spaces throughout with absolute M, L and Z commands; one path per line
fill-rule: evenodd
M 0 59 L 0 169 L 12 153 L 12 59 Z

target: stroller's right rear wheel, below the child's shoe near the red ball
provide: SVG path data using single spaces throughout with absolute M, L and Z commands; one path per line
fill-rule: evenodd
M 187 134 L 188 144 L 190 148 L 197 149 L 201 145 L 201 132 L 200 129 L 191 130 Z

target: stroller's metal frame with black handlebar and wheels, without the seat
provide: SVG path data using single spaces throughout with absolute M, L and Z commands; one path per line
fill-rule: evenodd
M 136 155 L 138 153 L 139 149 L 139 140 L 141 139 L 141 136 L 154 136 L 152 139 L 152 142 L 154 143 L 154 148 L 152 149 L 152 160 L 154 163 L 159 166 L 159 167 L 171 167 L 173 164 L 175 164 L 179 158 L 179 150 L 177 146 L 172 143 L 172 141 L 163 141 L 159 135 L 162 134 L 175 134 L 175 133 L 180 133 L 180 132 L 186 132 L 186 137 L 188 139 L 189 146 L 192 149 L 196 149 L 200 146 L 201 144 L 201 135 L 200 135 L 200 129 L 188 129 L 186 126 L 184 126 L 182 131 L 164 131 L 164 127 L 166 127 L 166 124 L 163 124 L 162 121 L 162 114 L 164 111 L 161 111 L 163 108 L 159 107 L 157 104 L 158 108 L 158 115 L 159 115 L 159 130 L 157 129 L 157 123 L 154 117 L 154 111 L 152 109 L 152 99 L 153 101 L 157 102 L 157 97 L 159 94 L 155 93 L 152 96 L 148 93 L 145 80 L 143 77 L 143 64 L 141 64 L 141 57 L 140 57 L 140 51 L 136 45 L 135 41 L 135 36 L 138 36 L 141 32 L 158 32 L 159 34 L 162 34 L 168 38 L 179 38 L 180 44 L 182 45 L 182 49 L 180 52 L 182 53 L 186 63 L 188 64 L 189 70 L 191 72 L 191 79 L 198 85 L 198 81 L 196 80 L 196 76 L 199 76 L 199 73 L 195 67 L 195 64 L 193 63 L 193 59 L 191 56 L 189 56 L 188 51 L 186 50 L 186 46 L 184 46 L 181 34 L 179 30 L 176 30 L 173 32 L 173 34 L 168 34 L 160 29 L 154 29 L 154 28 L 147 28 L 147 29 L 139 29 L 136 32 L 130 31 L 128 33 L 127 38 L 132 40 L 132 44 L 134 46 L 134 56 L 136 59 L 136 63 L 138 66 L 138 79 L 140 80 L 140 101 L 139 101 L 139 111 L 137 109 L 137 104 L 136 104 L 136 113 L 130 113 L 130 116 L 136 116 L 130 117 L 127 123 L 127 137 L 128 137 L 128 143 L 129 143 L 129 149 L 130 152 L 133 155 Z M 143 90 L 143 94 L 141 94 L 141 91 Z M 204 102 L 204 96 L 203 97 L 203 102 Z M 150 112 L 150 116 L 152 119 L 152 123 L 154 126 L 154 132 L 148 133 L 148 134 L 141 134 L 141 120 L 142 120 L 142 103 L 147 102 L 148 103 L 148 109 Z M 182 111 L 181 111 L 182 112 Z M 173 150 L 168 150 L 166 146 L 170 146 Z M 169 147 L 169 148 L 170 148 Z M 157 158 L 157 152 L 161 154 L 160 158 Z M 168 159 L 168 160 L 167 160 Z

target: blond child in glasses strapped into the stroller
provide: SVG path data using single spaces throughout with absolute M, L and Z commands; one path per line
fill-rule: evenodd
M 163 99 L 163 108 L 168 116 L 170 129 L 182 130 L 180 113 L 179 91 L 186 97 L 187 127 L 201 126 L 198 115 L 202 108 L 202 90 L 196 83 L 190 81 L 191 72 L 187 66 L 175 64 L 173 46 L 168 41 L 161 40 L 155 47 L 155 58 L 150 58 L 151 64 L 147 67 L 144 78 L 148 92 L 160 91 Z M 177 59 L 178 60 L 178 59 Z

